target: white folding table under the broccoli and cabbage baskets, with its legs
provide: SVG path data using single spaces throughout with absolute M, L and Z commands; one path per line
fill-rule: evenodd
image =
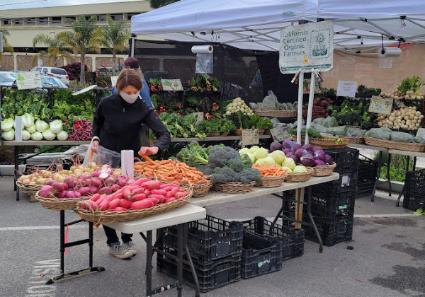
M 307 180 L 306 182 L 283 182 L 283 185 L 281 185 L 280 187 L 253 187 L 251 192 L 248 192 L 248 193 L 226 194 L 222 192 L 211 191 L 211 192 L 208 192 L 208 194 L 204 197 L 200 197 L 200 198 L 192 197 L 188 201 L 188 204 L 194 204 L 197 206 L 208 206 L 208 205 L 234 202 L 234 201 L 239 201 L 243 199 L 259 197 L 266 194 L 274 194 L 275 196 L 282 199 L 282 207 L 279 209 L 278 214 L 276 214 L 276 218 L 274 220 L 276 222 L 279 217 L 283 217 L 283 209 L 284 209 L 285 201 L 286 201 L 285 192 L 289 190 L 300 190 L 300 192 L 303 192 L 305 187 L 307 187 L 308 188 L 307 202 L 302 201 L 304 194 L 299 195 L 300 200 L 297 200 L 297 202 L 300 204 L 307 204 L 307 215 L 310 218 L 310 222 L 311 222 L 310 225 L 314 229 L 314 233 L 316 234 L 317 240 L 319 241 L 319 252 L 322 252 L 323 251 L 322 238 L 320 238 L 319 231 L 317 230 L 316 223 L 314 223 L 314 219 L 311 214 L 312 192 L 311 192 L 310 186 L 322 184 L 324 182 L 331 182 L 332 180 L 338 180 L 338 179 L 339 179 L 338 173 L 331 173 L 331 175 L 324 176 L 324 177 L 310 177 L 310 179 Z M 282 192 L 283 194 L 280 196 L 276 194 L 278 192 Z M 295 219 L 293 221 L 295 221 L 298 224 L 302 222 L 302 207 L 299 207 L 297 209 L 300 209 L 300 211 L 298 211 L 295 214 Z M 304 224 L 307 224 L 307 223 L 304 222 Z

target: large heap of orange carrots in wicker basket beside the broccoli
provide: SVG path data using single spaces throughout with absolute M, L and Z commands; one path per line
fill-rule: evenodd
M 178 185 L 191 185 L 193 197 L 202 197 L 212 187 L 213 177 L 204 175 L 184 162 L 171 159 L 153 161 L 148 156 L 141 155 L 146 161 L 138 161 L 134 164 L 135 174 L 153 178 L 162 182 L 176 183 Z

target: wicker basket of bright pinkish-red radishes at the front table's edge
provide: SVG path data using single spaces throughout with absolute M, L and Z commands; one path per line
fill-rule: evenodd
M 132 221 L 181 207 L 192 193 L 191 187 L 142 177 L 112 194 L 94 194 L 78 202 L 77 212 L 94 223 Z

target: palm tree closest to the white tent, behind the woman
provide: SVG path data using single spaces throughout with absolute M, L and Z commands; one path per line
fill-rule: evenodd
M 113 21 L 107 16 L 106 21 L 108 25 L 101 28 L 101 44 L 112 52 L 112 75 L 115 76 L 116 54 L 126 49 L 130 31 L 125 28 L 125 20 Z

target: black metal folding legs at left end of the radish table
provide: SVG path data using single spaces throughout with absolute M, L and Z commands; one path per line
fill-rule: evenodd
M 70 223 L 65 224 L 65 211 L 60 211 L 60 275 L 55 276 L 52 279 L 49 279 L 46 284 L 54 284 L 56 281 L 60 279 L 68 279 L 72 276 L 79 276 L 81 274 L 87 274 L 90 272 L 103 272 L 105 268 L 93 267 L 93 223 L 89 223 L 89 238 L 84 240 L 72 241 L 71 243 L 65 243 L 65 227 L 69 225 L 74 225 L 75 223 L 81 223 L 84 220 L 72 221 Z M 89 243 L 89 268 L 81 269 L 76 272 L 69 272 L 64 274 L 64 253 L 65 248 L 74 247 L 76 245 L 84 245 Z

